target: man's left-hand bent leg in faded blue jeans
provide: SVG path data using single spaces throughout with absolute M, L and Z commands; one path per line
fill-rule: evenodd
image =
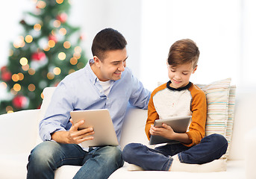
M 28 157 L 27 178 L 54 178 L 54 170 L 63 165 L 79 166 L 86 155 L 79 145 L 42 142 Z

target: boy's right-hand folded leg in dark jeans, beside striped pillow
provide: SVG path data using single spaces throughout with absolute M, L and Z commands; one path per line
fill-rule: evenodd
M 219 159 L 227 151 L 228 141 L 224 136 L 205 136 L 198 145 L 178 154 L 181 163 L 203 164 Z

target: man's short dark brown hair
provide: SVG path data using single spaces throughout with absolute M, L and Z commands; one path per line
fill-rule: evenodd
M 122 50 L 127 45 L 125 37 L 119 31 L 113 28 L 105 28 L 96 34 L 93 39 L 92 52 L 93 56 L 104 60 L 104 53 L 111 50 Z

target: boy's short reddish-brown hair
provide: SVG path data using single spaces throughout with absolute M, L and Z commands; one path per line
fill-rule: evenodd
M 199 54 L 199 48 L 193 40 L 178 40 L 169 48 L 168 63 L 173 67 L 192 63 L 195 68 L 199 61 Z

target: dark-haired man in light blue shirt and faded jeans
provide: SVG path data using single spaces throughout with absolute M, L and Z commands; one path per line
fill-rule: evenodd
M 31 151 L 27 178 L 54 178 L 63 165 L 81 166 L 74 178 L 108 178 L 123 165 L 119 147 L 81 148 L 93 139 L 93 128 L 78 131 L 84 121 L 72 123 L 70 111 L 108 109 L 117 138 L 128 103 L 147 108 L 150 92 L 126 67 L 125 37 L 112 28 L 96 34 L 93 60 L 84 69 L 66 76 L 54 90 L 46 116 L 40 122 L 44 142 Z

